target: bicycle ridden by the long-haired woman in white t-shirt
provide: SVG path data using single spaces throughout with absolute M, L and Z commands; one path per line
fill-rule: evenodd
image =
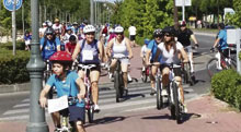
M 181 88 L 179 87 L 180 82 L 177 82 L 174 77 L 174 69 L 181 68 L 181 65 L 171 63 L 169 68 L 170 84 L 167 86 L 169 109 L 171 111 L 172 119 L 175 119 L 176 123 L 181 123 L 184 106 L 181 103 Z

